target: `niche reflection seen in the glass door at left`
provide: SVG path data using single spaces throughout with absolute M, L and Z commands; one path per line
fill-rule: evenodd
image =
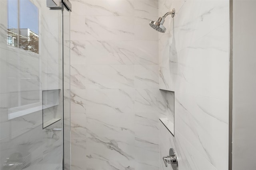
M 62 105 L 60 89 L 42 91 L 43 129 L 60 121 Z

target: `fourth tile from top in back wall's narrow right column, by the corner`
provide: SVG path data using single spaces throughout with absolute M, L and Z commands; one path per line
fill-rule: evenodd
M 158 88 L 158 65 L 135 65 L 135 88 Z

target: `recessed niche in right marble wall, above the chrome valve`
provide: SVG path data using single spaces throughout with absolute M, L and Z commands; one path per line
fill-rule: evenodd
M 174 136 L 174 92 L 163 90 L 166 93 L 166 117 L 159 120 Z

